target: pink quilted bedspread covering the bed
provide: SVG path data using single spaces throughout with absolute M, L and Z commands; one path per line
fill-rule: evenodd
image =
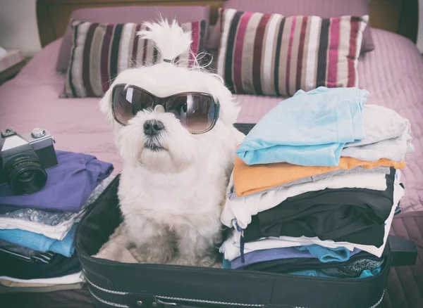
M 370 92 L 368 103 L 393 108 L 412 123 L 415 153 L 403 171 L 404 212 L 423 210 L 423 57 L 408 39 L 372 29 L 375 50 L 360 58 L 360 87 Z M 19 75 L 0 86 L 0 127 L 26 133 L 44 127 L 56 139 L 56 149 L 89 153 L 121 169 L 111 128 L 99 112 L 99 98 L 59 98 L 65 77 L 55 71 L 60 40 L 46 46 Z M 238 96 L 238 122 L 255 123 L 283 98 Z

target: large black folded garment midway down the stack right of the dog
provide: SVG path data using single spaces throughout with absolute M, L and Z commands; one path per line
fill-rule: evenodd
M 287 198 L 252 217 L 246 242 L 266 237 L 307 236 L 320 240 L 381 247 L 385 221 L 393 206 L 395 169 L 386 175 L 386 190 L 326 188 Z

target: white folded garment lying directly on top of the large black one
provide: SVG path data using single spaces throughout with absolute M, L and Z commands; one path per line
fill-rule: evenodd
M 233 177 L 229 186 L 233 186 Z M 231 227 L 236 220 L 238 225 L 245 229 L 251 223 L 251 217 L 259 212 L 276 207 L 287 198 L 309 191 L 321 191 L 325 188 L 367 188 L 375 191 L 386 190 L 385 174 L 357 173 L 335 175 L 319 181 L 296 184 L 288 187 L 277 188 L 261 194 L 247 195 L 243 198 L 226 198 L 221 214 L 221 222 Z

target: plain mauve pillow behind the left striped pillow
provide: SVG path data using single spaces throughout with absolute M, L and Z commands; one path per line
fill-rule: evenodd
M 119 6 L 114 8 L 82 8 L 73 11 L 71 20 L 84 20 L 90 23 L 137 23 L 157 21 L 163 18 L 176 18 L 178 23 L 205 20 L 209 26 L 209 6 Z M 206 33 L 207 37 L 207 33 Z M 72 29 L 68 23 L 61 42 L 56 70 L 66 71 L 71 59 Z

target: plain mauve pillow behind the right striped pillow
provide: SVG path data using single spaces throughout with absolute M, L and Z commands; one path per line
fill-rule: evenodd
M 321 18 L 343 15 L 369 15 L 369 0 L 228 0 L 223 8 L 235 8 L 240 11 L 277 13 L 284 16 L 315 15 Z M 218 49 L 220 41 L 220 18 L 210 32 L 207 49 Z M 370 25 L 363 33 L 361 53 L 374 49 Z

